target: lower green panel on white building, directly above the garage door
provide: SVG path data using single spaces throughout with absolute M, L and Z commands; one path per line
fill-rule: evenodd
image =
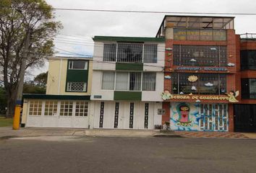
M 142 92 L 114 92 L 114 100 L 141 100 Z

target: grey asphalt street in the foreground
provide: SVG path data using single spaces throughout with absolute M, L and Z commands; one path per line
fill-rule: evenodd
M 46 136 L 0 140 L 0 172 L 253 172 L 256 141 Z

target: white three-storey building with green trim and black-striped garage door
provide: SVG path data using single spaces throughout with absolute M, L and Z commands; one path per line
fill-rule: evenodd
M 93 128 L 161 125 L 164 38 L 95 36 Z

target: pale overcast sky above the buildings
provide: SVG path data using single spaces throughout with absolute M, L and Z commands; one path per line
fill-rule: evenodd
M 255 13 L 256 6 L 254 0 L 46 0 L 46 2 L 54 8 L 200 13 Z M 55 10 L 54 13 L 56 21 L 60 21 L 64 27 L 54 41 L 56 51 L 59 52 L 56 56 L 79 56 L 78 54 L 93 56 L 92 37 L 95 35 L 155 37 L 165 15 L 61 10 Z M 216 16 L 236 17 L 236 34 L 256 33 L 256 15 Z M 69 52 L 77 55 L 71 55 Z M 46 66 L 33 69 L 33 73 L 30 74 L 35 76 L 47 70 L 46 62 Z

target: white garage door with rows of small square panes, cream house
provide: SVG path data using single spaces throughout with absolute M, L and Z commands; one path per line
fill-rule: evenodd
M 27 127 L 88 128 L 88 102 L 30 100 Z

